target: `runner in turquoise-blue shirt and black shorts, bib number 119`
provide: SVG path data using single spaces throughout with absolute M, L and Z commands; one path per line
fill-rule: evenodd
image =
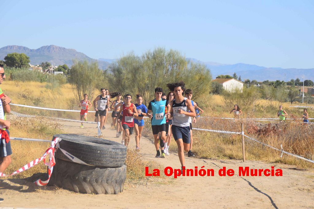
M 166 140 L 166 118 L 165 118 L 165 107 L 170 109 L 168 101 L 161 99 L 163 89 L 160 87 L 155 88 L 155 99 L 149 102 L 148 105 L 148 117 L 152 119 L 152 131 L 154 134 L 154 145 L 157 151 L 156 158 L 165 158 L 164 145 Z M 152 114 L 149 114 L 151 113 Z M 158 144 L 158 133 L 161 133 L 160 149 Z

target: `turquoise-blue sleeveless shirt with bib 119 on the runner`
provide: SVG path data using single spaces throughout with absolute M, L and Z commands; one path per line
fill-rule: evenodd
M 149 102 L 148 109 L 153 112 L 152 125 L 161 125 L 166 123 L 165 107 L 168 106 L 166 99 L 161 99 L 159 102 L 153 99 Z

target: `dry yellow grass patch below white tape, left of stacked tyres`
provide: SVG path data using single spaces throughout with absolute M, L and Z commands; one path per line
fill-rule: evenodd
M 49 141 L 51 141 L 52 136 L 54 134 L 63 133 L 61 124 L 51 122 L 45 118 L 19 118 L 10 115 L 8 120 L 11 122 L 11 137 L 46 139 L 48 142 L 11 140 L 13 152 L 11 155 L 12 163 L 6 170 L 7 174 L 14 172 L 32 160 L 41 157 L 46 149 L 50 147 Z M 29 170 L 14 175 L 12 178 L 24 178 L 35 173 L 46 172 L 47 166 L 41 162 Z

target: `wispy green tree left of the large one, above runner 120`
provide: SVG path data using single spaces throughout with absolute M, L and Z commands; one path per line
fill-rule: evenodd
M 98 63 L 88 63 L 86 60 L 73 62 L 71 69 L 68 70 L 68 81 L 75 99 L 82 99 L 85 93 L 93 99 L 96 87 L 103 82 L 103 74 L 98 68 Z

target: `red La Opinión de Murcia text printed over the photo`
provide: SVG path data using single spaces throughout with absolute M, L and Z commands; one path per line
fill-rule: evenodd
M 179 176 L 215 176 L 214 169 L 207 169 L 205 166 L 198 168 L 195 166 L 194 169 L 173 169 L 168 166 L 164 169 L 164 174 L 166 176 L 174 176 L 176 179 Z M 159 169 L 153 169 L 149 171 L 149 167 L 145 167 L 146 176 L 160 176 Z M 218 176 L 234 176 L 235 170 L 227 169 L 222 167 L 218 170 Z M 282 176 L 282 169 L 275 169 L 274 166 L 271 166 L 270 169 L 251 169 L 250 167 L 239 167 L 238 174 L 239 176 Z

